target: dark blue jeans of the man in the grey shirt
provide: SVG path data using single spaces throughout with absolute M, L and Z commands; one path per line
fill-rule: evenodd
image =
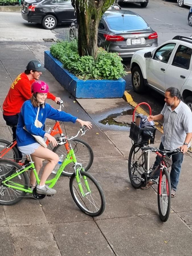
M 160 150 L 164 149 L 164 146 L 162 143 L 160 143 L 159 146 Z M 179 152 L 175 154 L 175 152 L 169 154 L 167 153 L 168 156 L 172 156 L 172 166 L 171 166 L 171 172 L 170 172 L 170 181 L 171 181 L 171 188 L 174 189 L 175 191 L 177 190 L 177 185 L 179 182 L 179 175 L 181 172 L 181 164 L 183 162 L 183 153 Z M 158 164 L 161 162 L 161 158 L 157 155 L 156 160 L 154 162 L 153 170 L 158 166 Z M 156 172 L 156 174 L 153 176 L 153 179 L 157 179 L 160 175 L 160 170 Z

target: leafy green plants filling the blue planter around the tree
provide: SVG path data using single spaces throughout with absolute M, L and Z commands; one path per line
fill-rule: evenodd
M 82 80 L 116 80 L 125 75 L 121 57 L 103 48 L 98 48 L 96 59 L 90 55 L 81 57 L 77 40 L 57 42 L 51 46 L 50 51 L 53 57 L 63 63 L 64 68 Z

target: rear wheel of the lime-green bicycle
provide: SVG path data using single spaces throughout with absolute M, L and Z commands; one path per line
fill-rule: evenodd
M 21 169 L 21 166 L 11 160 L 2 159 L 0 160 L 0 168 L 7 170 L 8 173 L 18 171 Z M 24 191 L 7 187 L 2 181 L 3 179 L 0 181 L 0 205 L 14 205 L 21 201 L 22 197 L 26 195 Z M 18 188 L 20 186 L 27 187 L 28 183 L 28 175 L 26 172 L 7 181 L 7 184 L 14 185 Z

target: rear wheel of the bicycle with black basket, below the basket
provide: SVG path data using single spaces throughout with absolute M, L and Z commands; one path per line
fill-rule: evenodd
M 128 174 L 129 174 L 129 179 L 131 181 L 132 186 L 135 189 L 139 189 L 142 187 L 142 181 L 137 179 L 137 177 L 141 177 L 141 175 L 144 173 L 144 170 L 146 170 L 146 165 L 147 165 L 147 156 L 146 153 L 143 154 L 142 159 L 141 159 L 141 163 L 139 165 L 141 166 L 137 166 L 137 161 L 134 162 L 134 158 L 135 158 L 135 154 L 137 154 L 139 152 L 139 150 L 142 151 L 141 147 L 143 147 L 143 145 L 141 144 L 133 144 L 133 146 L 131 147 L 131 150 L 129 152 L 129 159 L 128 159 Z M 138 148 L 136 150 L 136 148 Z M 138 154 L 139 156 L 140 154 Z M 132 156 L 133 156 L 133 160 L 132 160 Z M 137 157 L 136 157 L 137 159 Z M 136 160 L 135 159 L 135 160 Z M 131 161 L 132 160 L 132 161 Z M 132 163 L 132 166 L 131 166 Z M 143 166 L 142 166 L 143 165 Z M 139 167 L 142 167 L 141 169 Z M 134 170 L 133 170 L 134 168 Z M 143 169 L 143 170 L 142 170 Z M 142 173 L 139 173 L 138 170 Z M 133 173 L 132 173 L 133 172 Z M 136 173 L 136 174 L 135 174 Z M 138 174 L 139 173 L 139 176 Z M 133 176 L 134 175 L 134 176 Z M 137 181 L 137 183 L 135 182 Z

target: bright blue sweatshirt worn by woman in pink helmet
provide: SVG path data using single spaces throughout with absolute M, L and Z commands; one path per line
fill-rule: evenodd
M 38 121 L 42 123 L 42 128 L 37 128 L 34 123 L 37 116 L 38 107 L 34 107 L 30 100 L 26 100 L 21 108 L 17 129 L 16 129 L 16 141 L 17 146 L 26 146 L 32 143 L 35 143 L 35 138 L 31 135 L 39 135 L 42 138 L 45 136 L 45 131 L 42 130 L 46 118 L 72 122 L 75 123 L 77 121 L 77 117 L 68 114 L 63 111 L 56 110 L 52 108 L 48 103 L 45 104 L 45 108 L 39 109 Z M 23 129 L 26 127 L 27 131 Z

